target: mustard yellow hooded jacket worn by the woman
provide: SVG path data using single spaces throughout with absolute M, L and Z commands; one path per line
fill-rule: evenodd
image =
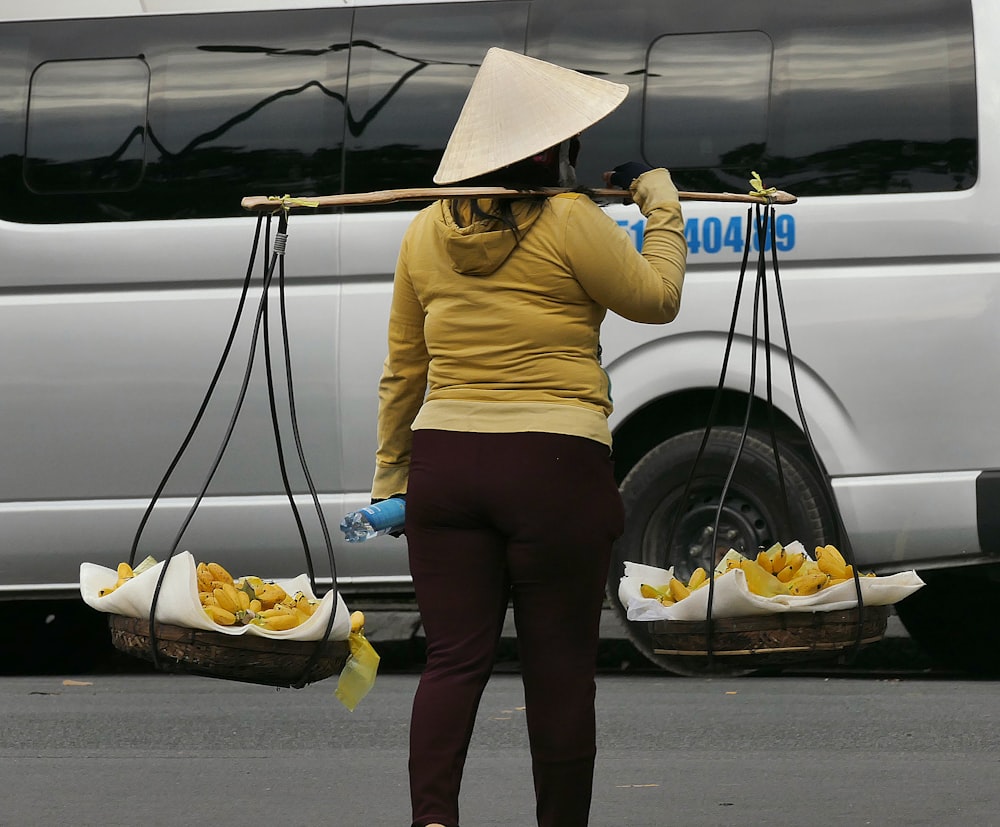
M 396 265 L 373 497 L 405 493 L 421 428 L 611 445 L 601 323 L 607 310 L 672 321 L 687 257 L 670 174 L 643 174 L 632 197 L 647 219 L 641 253 L 577 193 L 515 202 L 519 238 L 492 222 L 459 226 L 447 201 L 417 214 Z

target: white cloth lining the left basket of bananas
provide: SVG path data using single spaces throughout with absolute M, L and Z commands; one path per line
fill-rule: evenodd
M 111 594 L 100 597 L 101 589 L 110 588 L 118 582 L 118 572 L 96 563 L 82 563 L 80 565 L 80 593 L 88 606 L 100 612 L 148 620 L 153 603 L 153 592 L 156 589 L 163 565 L 164 561 L 161 560 L 155 566 L 151 566 L 123 583 Z M 160 595 L 156 601 L 156 621 L 158 623 L 221 632 L 224 635 L 257 635 L 284 640 L 320 640 L 323 638 L 330 613 L 334 611 L 334 593 L 332 591 L 323 595 L 323 599 L 319 602 L 312 617 L 293 629 L 272 631 L 252 623 L 246 626 L 221 626 L 213 622 L 201 607 L 201 601 L 198 599 L 196 568 L 195 559 L 189 551 L 179 552 L 170 560 L 167 573 L 163 578 L 163 585 L 160 588 Z M 290 580 L 275 579 L 273 582 L 289 594 L 294 595 L 296 592 L 302 592 L 310 600 L 316 599 L 309 583 L 309 577 L 305 574 L 300 574 Z M 350 612 L 338 592 L 336 594 L 336 615 L 330 630 L 329 640 L 346 640 L 350 631 Z

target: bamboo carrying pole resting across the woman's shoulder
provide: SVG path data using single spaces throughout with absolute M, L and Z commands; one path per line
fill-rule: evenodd
M 316 209 L 318 207 L 361 207 L 392 204 L 397 201 L 437 201 L 441 198 L 514 198 L 525 195 L 558 195 L 569 190 L 545 188 L 537 190 L 510 190 L 503 187 L 428 187 L 416 189 L 376 190 L 374 192 L 319 195 L 299 198 L 290 195 L 248 195 L 241 202 L 245 210 Z M 625 190 L 595 189 L 598 198 L 623 200 Z M 794 204 L 798 199 L 787 192 L 776 190 L 768 194 L 743 194 L 738 192 L 679 192 L 681 201 L 723 201 L 749 204 Z

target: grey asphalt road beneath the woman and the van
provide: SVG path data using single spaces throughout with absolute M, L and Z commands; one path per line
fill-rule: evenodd
M 335 679 L 0 678 L 0 824 L 403 825 L 417 675 L 353 712 Z M 1000 824 L 1000 685 L 603 674 L 592 827 Z M 467 827 L 533 824 L 519 677 L 483 697 Z

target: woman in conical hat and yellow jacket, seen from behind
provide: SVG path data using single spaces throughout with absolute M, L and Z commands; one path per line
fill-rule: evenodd
M 626 91 L 491 49 L 434 180 L 570 183 L 575 136 Z M 402 243 L 372 498 L 406 495 L 427 639 L 410 732 L 413 827 L 459 823 L 509 602 L 538 824 L 587 824 L 598 627 L 623 530 L 598 336 L 607 310 L 671 321 L 687 252 L 666 170 L 626 164 L 610 180 L 646 215 L 641 253 L 580 193 L 438 201 Z

